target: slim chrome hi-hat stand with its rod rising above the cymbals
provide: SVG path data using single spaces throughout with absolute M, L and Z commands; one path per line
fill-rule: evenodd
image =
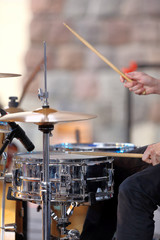
M 44 42 L 44 85 L 45 92 L 40 89 L 38 97 L 43 101 L 43 108 L 49 108 L 47 92 L 47 59 L 46 42 Z M 53 124 L 39 125 L 39 130 L 43 132 L 43 171 L 41 181 L 42 199 L 42 240 L 50 240 L 51 229 L 51 182 L 49 177 L 49 136 L 53 130 Z

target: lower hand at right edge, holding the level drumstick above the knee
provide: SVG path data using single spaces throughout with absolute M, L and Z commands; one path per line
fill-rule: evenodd
M 160 163 L 160 143 L 149 145 L 143 154 L 142 160 L 153 166 Z

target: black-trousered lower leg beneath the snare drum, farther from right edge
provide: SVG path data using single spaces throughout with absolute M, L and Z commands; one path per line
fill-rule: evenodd
M 116 230 L 116 199 L 97 202 L 90 206 L 84 223 L 81 240 L 110 240 Z M 112 209 L 112 211 L 110 211 Z

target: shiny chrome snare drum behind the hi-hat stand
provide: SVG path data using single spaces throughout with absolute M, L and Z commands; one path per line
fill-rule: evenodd
M 42 152 L 17 154 L 13 163 L 13 196 L 41 201 L 42 169 Z M 51 202 L 92 203 L 113 196 L 112 158 L 51 151 L 49 175 Z

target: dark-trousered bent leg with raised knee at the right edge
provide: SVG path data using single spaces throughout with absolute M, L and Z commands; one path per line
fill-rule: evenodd
M 118 240 L 152 240 L 160 204 L 160 164 L 127 178 L 119 188 Z

